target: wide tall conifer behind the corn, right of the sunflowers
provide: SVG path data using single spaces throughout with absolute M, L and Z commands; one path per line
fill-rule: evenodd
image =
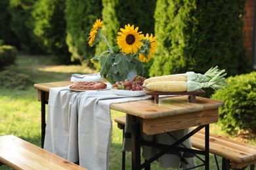
M 154 17 L 159 48 L 150 76 L 205 73 L 215 65 L 228 76 L 248 72 L 242 33 L 245 2 L 158 0 Z

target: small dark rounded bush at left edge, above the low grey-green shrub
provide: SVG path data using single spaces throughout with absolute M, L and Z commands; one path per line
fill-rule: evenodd
M 17 50 L 14 46 L 0 46 L 0 70 L 15 63 Z

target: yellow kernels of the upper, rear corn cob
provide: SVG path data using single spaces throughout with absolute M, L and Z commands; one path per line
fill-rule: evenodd
M 149 82 L 165 82 L 165 81 L 184 81 L 186 82 L 187 76 L 184 74 L 176 74 L 176 75 L 165 75 L 165 76 L 153 76 L 151 78 L 147 78 L 144 80 L 144 86 L 146 86 Z

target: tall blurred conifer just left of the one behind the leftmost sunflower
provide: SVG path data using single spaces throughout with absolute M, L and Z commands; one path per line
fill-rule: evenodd
M 70 63 L 66 44 L 66 0 L 39 0 L 33 5 L 34 41 L 58 63 Z

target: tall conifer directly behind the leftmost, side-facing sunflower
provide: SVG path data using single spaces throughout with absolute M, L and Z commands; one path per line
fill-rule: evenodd
M 96 18 L 102 18 L 102 2 L 66 0 L 66 42 L 72 61 L 90 64 L 89 59 L 95 54 L 95 47 L 88 45 L 89 32 Z M 92 65 L 92 64 L 91 64 Z

